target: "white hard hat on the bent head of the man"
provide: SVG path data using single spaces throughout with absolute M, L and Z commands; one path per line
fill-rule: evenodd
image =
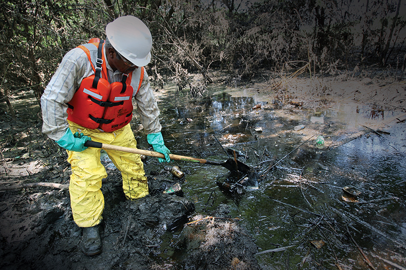
M 106 35 L 116 51 L 137 66 L 151 61 L 152 36 L 137 17 L 122 16 L 106 26 Z

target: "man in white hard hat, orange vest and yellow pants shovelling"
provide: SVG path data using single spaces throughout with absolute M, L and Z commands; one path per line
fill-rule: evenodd
M 99 254 L 104 209 L 101 180 L 107 177 L 100 149 L 86 147 L 88 140 L 137 147 L 129 122 L 132 97 L 137 104 L 147 141 L 170 161 L 159 109 L 144 66 L 151 60 L 152 36 L 134 16 L 123 16 L 106 26 L 106 40 L 93 38 L 69 51 L 41 97 L 43 133 L 67 150 L 71 164 L 69 193 L 75 223 L 82 227 L 81 249 Z M 140 155 L 106 150 L 120 170 L 127 199 L 148 195 L 147 177 Z

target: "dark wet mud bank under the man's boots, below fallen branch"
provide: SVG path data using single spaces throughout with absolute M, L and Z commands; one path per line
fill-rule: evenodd
M 168 179 L 169 178 L 169 179 Z M 256 245 L 238 220 L 226 216 L 196 220 L 191 201 L 162 194 L 175 183 L 170 177 L 149 178 L 151 195 L 124 198 L 120 175 L 110 171 L 103 185 L 106 201 L 104 250 L 87 257 L 79 249 L 81 229 L 72 218 L 67 190 L 36 187 L 1 192 L 2 269 L 256 269 Z M 224 219 L 219 219 L 224 217 Z M 181 261 L 160 256 L 162 238 L 179 234 L 172 249 L 184 251 Z M 187 253 L 186 251 L 192 251 Z M 239 267 L 239 268 L 238 268 Z

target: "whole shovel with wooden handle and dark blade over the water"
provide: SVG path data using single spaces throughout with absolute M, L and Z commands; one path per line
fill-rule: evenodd
M 112 145 L 112 144 L 106 144 L 106 143 L 95 142 L 95 141 L 87 141 L 87 142 L 85 142 L 84 145 L 87 147 L 95 147 L 95 148 L 101 148 L 101 149 L 107 149 L 107 150 L 116 150 L 116 151 L 122 151 L 122 152 L 136 153 L 139 155 L 161 158 L 161 159 L 165 158 L 165 156 L 159 152 Z M 173 154 L 170 154 L 169 157 L 171 158 L 171 160 L 188 161 L 188 162 L 209 164 L 209 165 L 220 165 L 220 166 L 223 166 L 224 168 L 228 169 L 229 171 L 240 171 L 243 173 L 247 173 L 251 170 L 251 168 L 248 165 L 246 165 L 236 159 L 228 159 L 225 162 L 215 162 L 215 161 L 208 161 L 208 160 L 204 160 L 204 159 L 196 159 L 196 158 L 173 155 Z

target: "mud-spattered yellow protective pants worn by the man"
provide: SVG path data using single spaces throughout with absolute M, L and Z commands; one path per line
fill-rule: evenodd
M 91 137 L 93 141 L 137 147 L 137 141 L 130 125 L 114 132 L 100 132 L 86 129 L 69 121 L 73 133 L 79 132 Z M 147 177 L 140 155 L 115 150 L 105 150 L 113 164 L 120 170 L 123 178 L 124 194 L 129 200 L 148 195 Z M 67 151 L 67 162 L 71 164 L 72 174 L 69 184 L 73 218 L 80 227 L 91 227 L 101 222 L 104 197 L 101 180 L 107 177 L 105 167 L 100 163 L 100 149 L 89 147 L 82 152 Z

